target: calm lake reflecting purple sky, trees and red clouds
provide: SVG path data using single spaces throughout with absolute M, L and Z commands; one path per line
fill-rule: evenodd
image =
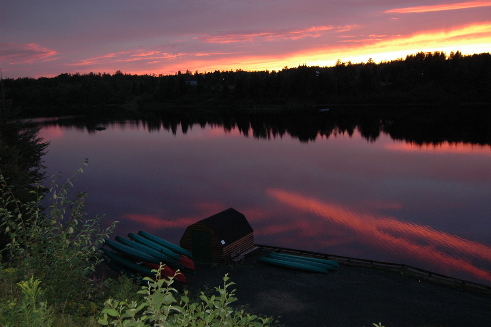
M 119 221 L 115 235 L 179 244 L 187 226 L 235 208 L 259 244 L 491 285 L 489 127 L 356 117 L 39 119 L 39 136 L 51 142 L 47 176 L 89 159 L 75 188 L 88 192 L 89 216 Z

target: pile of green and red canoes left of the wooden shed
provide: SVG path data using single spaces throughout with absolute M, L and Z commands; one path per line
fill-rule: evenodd
M 114 239 L 105 240 L 112 251 L 105 248 L 102 251 L 109 266 L 116 271 L 154 277 L 152 269 L 163 264 L 162 278 L 175 275 L 175 279 L 183 283 L 186 282 L 184 272 L 195 273 L 191 252 L 155 235 L 139 231 L 138 235 L 129 233 L 128 238 L 116 236 Z

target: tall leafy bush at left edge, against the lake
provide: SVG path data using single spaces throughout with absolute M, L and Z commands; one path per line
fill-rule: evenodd
M 34 200 L 22 203 L 14 196 L 13 186 L 0 176 L 0 229 L 9 238 L 0 253 L 8 255 L 9 266 L 18 269 L 21 278 L 36 276 L 43 280 L 46 296 L 55 309 L 68 313 L 87 308 L 92 311 L 89 277 L 100 261 L 99 245 L 115 226 L 113 222 L 102 229 L 105 216 L 85 216 L 86 193 L 70 199 L 71 180 L 82 172 L 80 168 L 61 186 L 53 180 L 49 189 L 51 205 L 46 210 L 41 206 L 42 192 L 31 191 Z

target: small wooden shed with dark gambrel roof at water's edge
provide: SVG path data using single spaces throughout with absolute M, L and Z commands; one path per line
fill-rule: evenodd
M 228 208 L 188 226 L 180 245 L 194 260 L 227 265 L 254 248 L 254 231 L 246 216 Z

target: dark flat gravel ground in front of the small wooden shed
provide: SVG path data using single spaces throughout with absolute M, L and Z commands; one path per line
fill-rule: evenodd
M 491 297 L 382 268 L 349 265 L 329 273 L 281 268 L 248 254 L 242 264 L 196 263 L 184 286 L 193 295 L 223 285 L 227 273 L 238 301 L 251 314 L 280 316 L 285 327 L 488 327 Z

